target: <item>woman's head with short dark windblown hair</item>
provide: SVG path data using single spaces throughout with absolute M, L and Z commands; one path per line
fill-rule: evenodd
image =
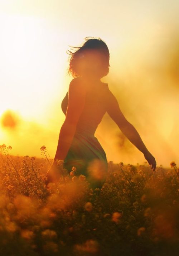
M 86 37 L 88 38 L 88 37 Z M 86 39 L 86 42 L 76 52 L 69 53 L 68 74 L 73 77 L 84 76 L 93 78 L 102 78 L 109 73 L 110 53 L 108 47 L 101 38 Z

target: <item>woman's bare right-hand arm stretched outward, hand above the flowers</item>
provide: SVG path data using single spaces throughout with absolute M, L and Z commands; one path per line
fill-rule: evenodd
M 139 149 L 144 154 L 148 163 L 152 165 L 151 168 L 154 168 L 155 170 L 155 158 L 150 154 L 149 150 L 146 148 L 135 127 L 129 121 L 127 121 L 127 119 L 121 112 L 117 99 L 110 90 L 108 92 L 107 113 L 112 118 L 112 120 L 115 121 L 115 123 L 120 128 L 122 133 L 131 141 L 131 143 L 134 144 L 136 148 Z

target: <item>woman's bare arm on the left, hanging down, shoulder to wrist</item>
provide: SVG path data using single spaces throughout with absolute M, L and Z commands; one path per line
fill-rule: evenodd
M 59 133 L 54 162 L 56 159 L 64 160 L 66 158 L 76 131 L 79 116 L 83 110 L 85 95 L 85 88 L 80 82 L 80 79 L 74 78 L 69 84 L 68 107 L 65 120 Z

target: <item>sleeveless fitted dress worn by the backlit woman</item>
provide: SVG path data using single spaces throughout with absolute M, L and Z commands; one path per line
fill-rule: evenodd
M 106 153 L 95 137 L 97 126 L 107 110 L 108 93 L 108 84 L 102 82 L 95 90 L 86 93 L 84 108 L 63 165 L 69 173 L 73 166 L 76 167 L 76 175 L 85 175 L 93 189 L 101 189 L 108 169 Z M 61 103 L 65 115 L 67 106 L 68 92 Z

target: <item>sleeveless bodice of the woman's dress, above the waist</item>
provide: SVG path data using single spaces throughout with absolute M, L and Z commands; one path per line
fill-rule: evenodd
M 83 111 L 77 123 L 75 135 L 95 135 L 95 131 L 107 110 L 108 93 L 108 83 L 103 82 L 99 85 L 99 88 L 95 87 L 95 90 L 87 91 L 86 100 Z M 68 92 L 61 103 L 61 108 L 64 115 L 66 115 L 67 106 Z

